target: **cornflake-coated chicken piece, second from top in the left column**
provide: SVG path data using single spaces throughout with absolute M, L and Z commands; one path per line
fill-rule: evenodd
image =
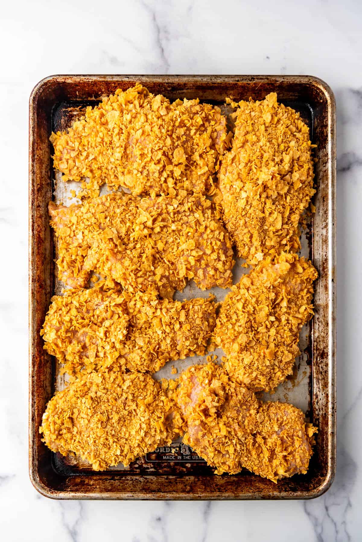
M 163 297 L 188 279 L 201 289 L 232 284 L 231 241 L 204 196 L 138 198 L 115 192 L 82 205 L 49 203 L 58 237 L 59 279 L 83 287 L 91 271 L 124 288 Z

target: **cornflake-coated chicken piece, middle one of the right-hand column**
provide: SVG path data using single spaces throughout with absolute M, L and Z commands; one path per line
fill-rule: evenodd
M 213 346 L 229 375 L 254 391 L 271 391 L 293 372 L 299 332 L 313 316 L 312 263 L 296 254 L 268 257 L 232 287 L 221 305 Z

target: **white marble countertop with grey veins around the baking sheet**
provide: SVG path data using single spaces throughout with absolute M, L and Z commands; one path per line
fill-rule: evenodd
M 362 4 L 18 0 L 1 8 L 0 537 L 362 539 Z M 28 479 L 28 98 L 54 73 L 309 74 L 338 107 L 338 470 L 312 501 L 61 502 Z

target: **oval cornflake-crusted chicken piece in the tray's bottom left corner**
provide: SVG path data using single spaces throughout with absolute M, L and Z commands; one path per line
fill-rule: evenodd
M 151 376 L 92 372 L 50 399 L 40 433 L 50 450 L 105 470 L 168 446 L 183 433 L 183 421 Z

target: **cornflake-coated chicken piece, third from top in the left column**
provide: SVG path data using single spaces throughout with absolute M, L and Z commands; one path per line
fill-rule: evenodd
M 41 335 L 47 352 L 65 364 L 62 372 L 156 372 L 168 360 L 205 354 L 216 320 L 213 296 L 181 302 L 103 286 L 52 298 Z

